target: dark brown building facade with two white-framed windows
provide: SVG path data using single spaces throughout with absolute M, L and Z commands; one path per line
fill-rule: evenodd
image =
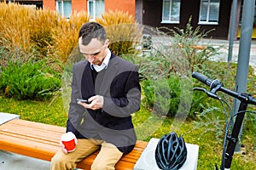
M 154 27 L 185 28 L 191 25 L 201 31 L 210 31 L 212 38 L 229 39 L 232 0 L 136 0 L 136 19 L 139 23 Z M 234 38 L 240 37 L 243 0 L 237 0 Z M 254 5 L 255 8 L 255 5 Z M 256 14 L 254 14 L 253 38 L 256 38 Z

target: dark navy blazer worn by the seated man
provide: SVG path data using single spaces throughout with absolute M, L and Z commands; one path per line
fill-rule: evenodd
M 86 110 L 77 104 L 76 99 L 82 96 L 89 99 L 94 95 L 104 97 L 101 110 Z M 90 63 L 79 61 L 73 66 L 67 132 L 73 132 L 79 139 L 105 140 L 128 153 L 137 141 L 131 114 L 139 110 L 140 104 L 141 87 L 136 65 L 111 54 L 108 68 L 98 73 L 94 84 Z

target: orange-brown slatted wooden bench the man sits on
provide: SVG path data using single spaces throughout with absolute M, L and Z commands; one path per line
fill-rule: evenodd
M 60 149 L 59 140 L 65 131 L 65 127 L 14 119 L 0 126 L 0 150 L 50 161 L 55 152 Z M 135 148 L 129 154 L 122 156 L 116 164 L 116 169 L 133 169 L 147 144 L 148 142 L 138 140 Z M 97 153 L 80 161 L 78 167 L 90 169 Z

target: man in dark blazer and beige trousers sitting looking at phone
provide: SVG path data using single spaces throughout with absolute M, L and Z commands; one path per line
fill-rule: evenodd
M 114 169 L 136 144 L 131 113 L 139 110 L 141 102 L 137 67 L 112 54 L 108 45 L 101 25 L 89 22 L 81 27 L 79 50 L 85 59 L 73 66 L 67 121 L 67 132 L 75 134 L 78 144 L 69 153 L 61 144 L 52 158 L 52 170 L 73 169 L 96 150 L 100 152 L 91 169 Z

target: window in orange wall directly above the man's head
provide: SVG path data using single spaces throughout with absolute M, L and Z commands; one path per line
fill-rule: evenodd
M 90 19 L 95 20 L 96 17 L 101 16 L 105 12 L 104 0 L 89 0 L 88 1 L 88 12 Z

